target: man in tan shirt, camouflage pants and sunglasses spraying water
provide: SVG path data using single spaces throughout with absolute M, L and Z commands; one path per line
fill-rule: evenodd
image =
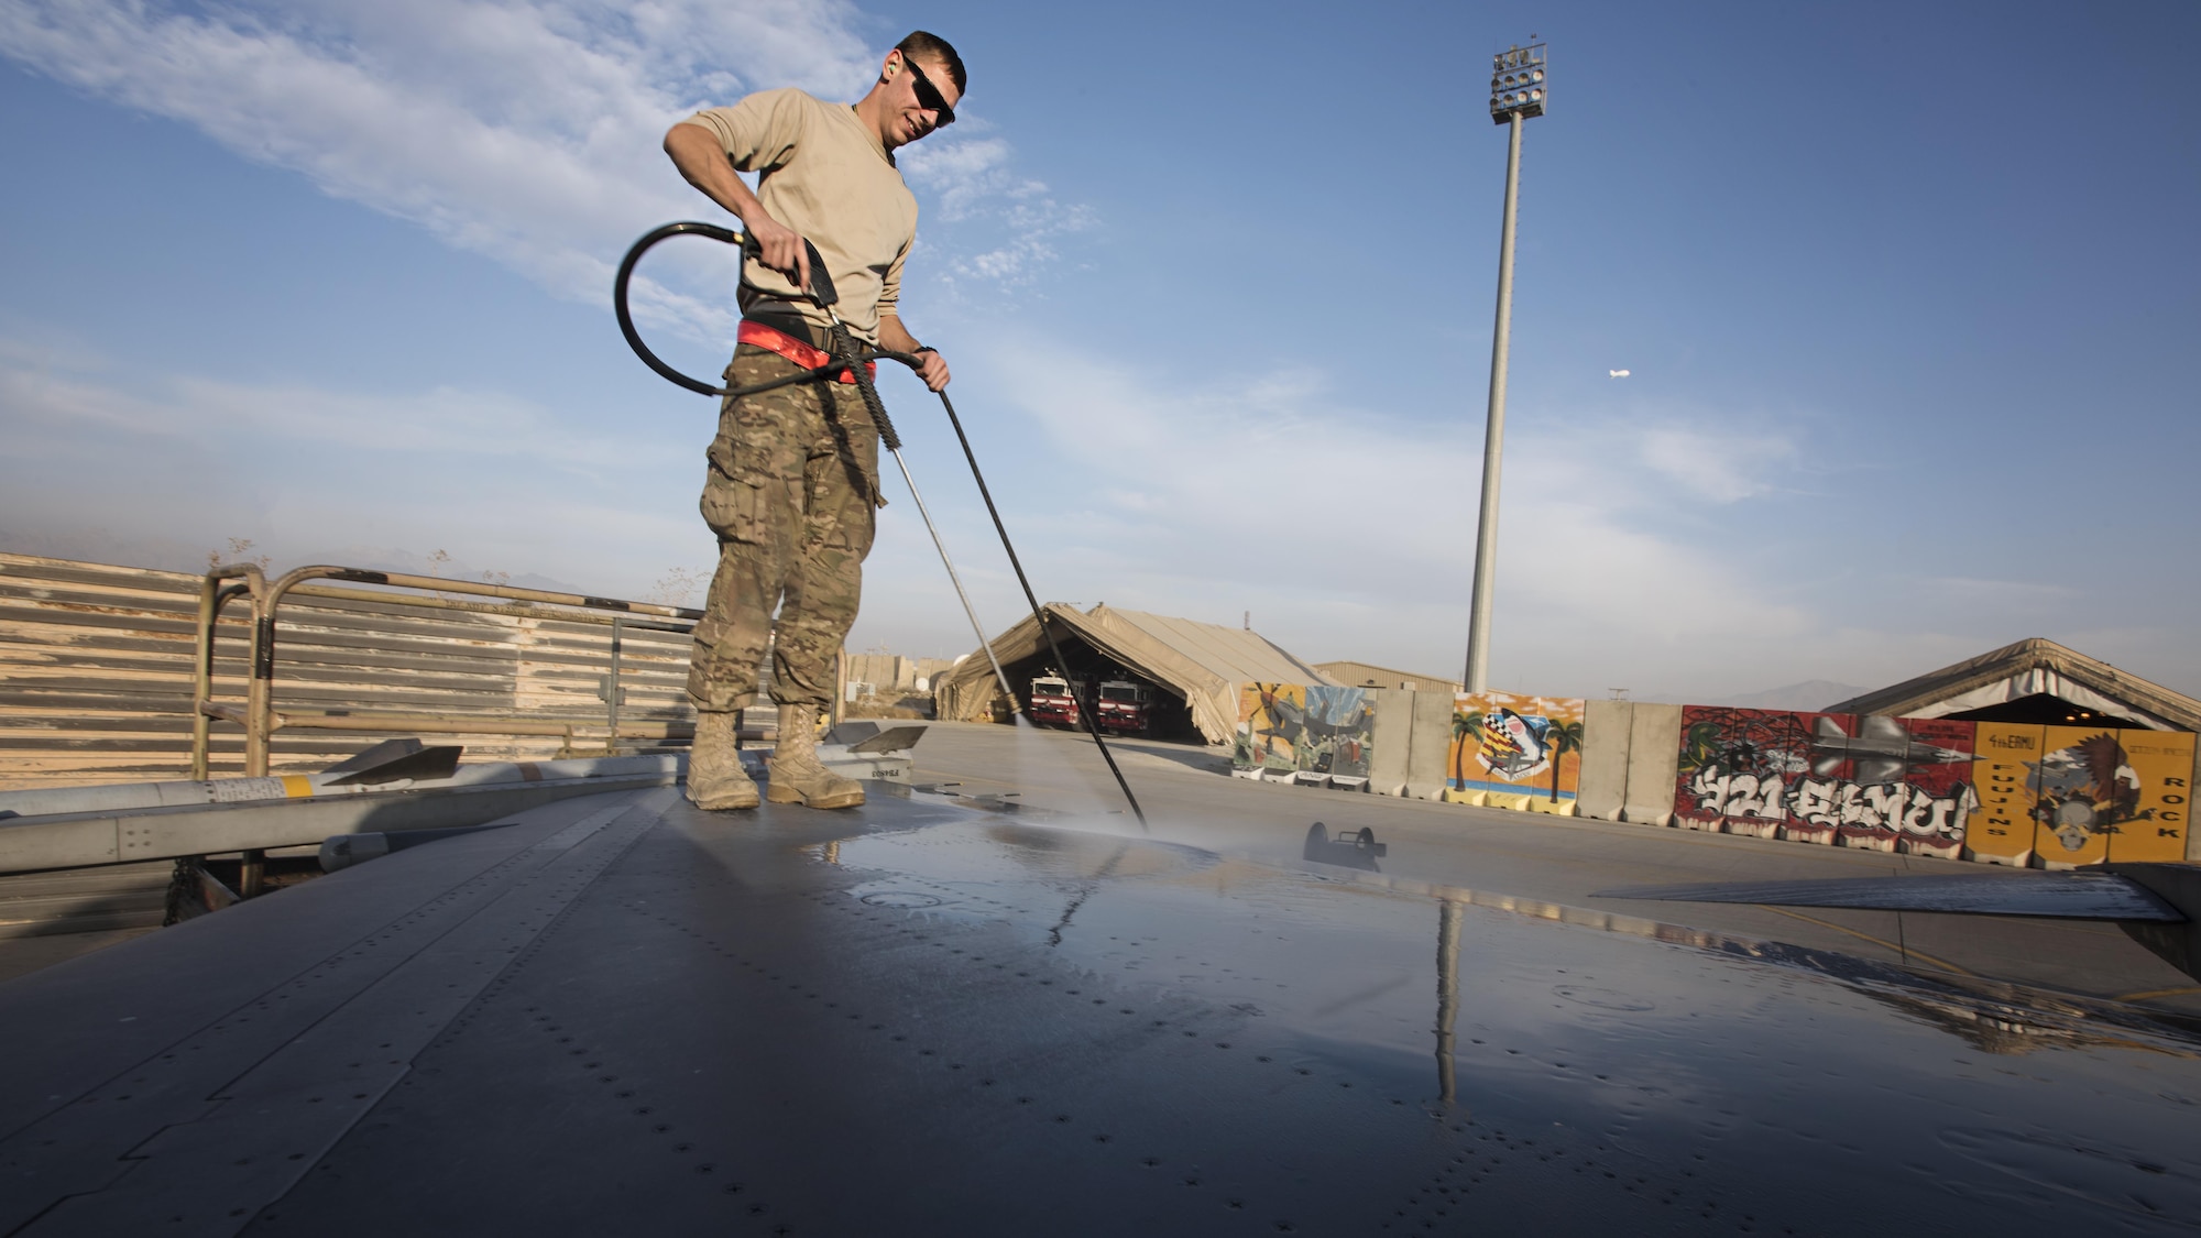
M 872 93 L 854 106 L 766 90 L 665 134 L 680 174 L 740 216 L 759 249 L 744 269 L 729 388 L 830 361 L 830 319 L 801 295 L 810 286 L 803 240 L 830 267 L 841 297 L 834 311 L 856 337 L 924 357 L 918 377 L 931 390 L 949 383 L 946 363 L 911 339 L 898 313 L 918 207 L 894 150 L 951 123 L 962 90 L 955 48 L 918 31 L 887 53 Z M 755 194 L 737 170 L 759 174 Z M 812 808 L 863 804 L 856 782 L 819 764 L 817 718 L 832 701 L 834 659 L 856 621 L 863 557 L 885 504 L 878 430 L 841 370 L 726 397 L 709 456 L 702 518 L 720 555 L 689 661 L 698 716 L 687 795 L 700 808 L 757 804 L 735 751 L 733 714 L 755 701 L 770 641 L 779 745 L 768 797 Z

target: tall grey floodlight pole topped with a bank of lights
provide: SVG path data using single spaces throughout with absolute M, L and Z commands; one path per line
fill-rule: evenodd
M 1521 126 L 1545 106 L 1545 51 L 1508 48 L 1494 57 L 1490 119 L 1505 132 L 1505 220 L 1499 225 L 1499 306 L 1490 333 L 1490 419 L 1483 427 L 1483 502 L 1475 518 L 1475 593 L 1468 601 L 1468 692 L 1490 687 L 1490 595 L 1499 557 L 1499 467 L 1505 452 L 1505 357 L 1512 350 L 1512 240 L 1521 198 Z

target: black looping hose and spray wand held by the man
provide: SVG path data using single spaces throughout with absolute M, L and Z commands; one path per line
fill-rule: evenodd
M 940 542 L 940 529 L 933 526 L 933 515 L 931 511 L 924 509 L 924 496 L 918 493 L 918 480 L 909 476 L 909 463 L 902 460 L 902 436 L 896 434 L 894 421 L 887 416 L 887 405 L 885 401 L 878 399 L 878 385 L 872 381 L 872 372 L 865 370 L 865 361 L 874 357 L 887 357 L 891 361 L 900 361 L 911 370 L 922 370 L 924 359 L 913 357 L 909 352 L 894 352 L 889 348 L 876 348 L 876 346 L 869 350 L 856 348 L 856 339 L 847 333 L 847 326 L 841 324 L 841 315 L 832 313 L 839 293 L 834 293 L 832 278 L 825 273 L 825 260 L 819 258 L 817 245 L 810 245 L 806 240 L 803 245 L 810 249 L 808 253 L 810 289 L 806 295 L 810 297 L 810 302 L 814 302 L 819 308 L 825 311 L 825 317 L 832 319 L 834 361 L 819 366 L 814 370 L 803 370 L 799 374 L 788 374 L 784 379 L 773 379 L 768 383 L 753 383 L 746 388 L 713 388 L 702 379 L 691 379 L 680 370 L 674 370 L 663 359 L 658 359 L 658 355 L 651 352 L 647 344 L 643 344 L 643 333 L 634 328 L 634 315 L 627 313 L 627 282 L 634 278 L 634 264 L 643 260 L 643 253 L 647 253 L 651 245 L 682 234 L 707 236 L 711 240 L 740 247 L 742 253 L 755 251 L 755 242 L 748 236 L 733 231 L 731 227 L 718 227 L 709 222 L 669 222 L 665 227 L 643 234 L 643 238 L 636 240 L 632 249 L 627 249 L 627 256 L 618 262 L 618 278 L 612 280 L 612 313 L 618 317 L 618 333 L 627 337 L 627 348 L 634 348 L 634 355 L 640 357 L 645 366 L 656 370 L 674 385 L 707 397 L 746 397 L 746 394 L 768 392 L 773 388 L 786 388 L 792 383 L 812 383 L 819 379 L 832 379 L 841 370 L 847 370 L 850 379 L 856 381 L 856 394 L 863 399 L 865 412 L 872 414 L 872 425 L 878 430 L 880 443 L 885 443 L 887 452 L 894 454 L 896 467 L 902 469 L 902 480 L 909 482 L 909 496 L 918 502 L 918 515 L 924 518 L 924 529 L 933 535 L 933 546 L 940 551 L 940 562 L 949 568 L 949 579 L 955 584 L 955 595 L 962 597 L 964 612 L 971 617 L 971 626 L 977 630 L 979 648 L 986 652 L 986 661 L 993 663 L 993 674 L 995 678 L 1001 681 L 1001 692 L 1010 694 L 1010 705 L 1015 707 L 1017 694 L 1008 685 L 1008 674 L 1001 670 L 1001 663 L 993 656 L 993 641 L 986 639 L 986 628 L 977 621 L 977 612 L 971 610 L 971 595 L 964 593 L 962 577 L 955 575 L 955 564 L 949 562 L 949 549 L 946 544 Z M 1001 549 L 1008 551 L 1008 564 L 1017 568 L 1017 584 L 1023 586 L 1023 599 L 1032 606 L 1032 621 L 1039 623 L 1039 634 L 1045 637 L 1048 652 L 1054 654 L 1054 665 L 1063 667 L 1063 672 L 1067 674 L 1070 663 L 1067 659 L 1063 659 L 1061 645 L 1054 643 L 1054 632 L 1048 628 L 1048 615 L 1039 608 L 1039 597 L 1032 593 L 1032 582 L 1026 579 L 1023 575 L 1023 562 L 1017 560 L 1017 546 L 1008 542 L 1008 526 L 1001 524 L 1001 511 L 993 504 L 993 491 L 986 489 L 986 474 L 982 474 L 977 467 L 977 456 L 971 452 L 971 436 L 964 434 L 962 419 L 955 416 L 955 403 L 949 401 L 946 392 L 940 392 L 940 405 L 949 410 L 949 425 L 955 427 L 955 441 L 962 443 L 964 460 L 971 463 L 971 478 L 977 480 L 977 493 L 986 500 L 986 513 L 993 515 L 993 529 L 995 533 L 1001 535 Z M 1085 723 L 1085 731 L 1094 738 L 1094 747 L 1100 749 L 1100 760 L 1107 762 L 1107 771 L 1116 775 L 1116 786 L 1123 789 L 1125 802 L 1131 804 L 1131 815 L 1138 817 L 1138 826 L 1151 833 L 1151 826 L 1147 826 L 1147 813 L 1138 806 L 1138 795 L 1131 793 L 1131 782 L 1125 780 L 1123 769 L 1116 767 L 1116 753 L 1107 751 L 1107 740 L 1100 738 L 1100 727 L 1094 720 L 1098 714 L 1096 703 L 1098 698 L 1081 703 L 1083 707 L 1078 709 L 1078 716 Z

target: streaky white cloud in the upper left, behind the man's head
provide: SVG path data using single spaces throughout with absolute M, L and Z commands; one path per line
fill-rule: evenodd
M 841 0 L 15 0 L 0 4 L 0 53 L 601 302 L 634 236 L 715 216 L 658 150 L 665 128 L 770 86 L 858 95 L 869 24 Z M 999 139 L 949 152 L 951 165 L 964 172 L 940 174 L 946 214 L 1010 203 L 964 273 L 1023 278 L 1050 229 L 1078 216 L 1034 203 L 1043 187 L 1008 170 Z M 722 282 L 718 267 L 693 251 L 651 260 L 682 264 L 691 295 L 643 280 L 636 313 L 724 339 L 726 313 L 698 293 Z

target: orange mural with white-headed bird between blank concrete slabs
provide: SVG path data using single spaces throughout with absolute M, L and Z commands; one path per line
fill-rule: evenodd
M 1461 692 L 1444 753 L 1446 800 L 1574 813 L 1583 775 L 1583 701 Z

